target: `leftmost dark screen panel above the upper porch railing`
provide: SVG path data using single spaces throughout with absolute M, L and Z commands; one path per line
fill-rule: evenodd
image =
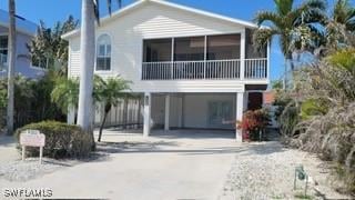
M 144 40 L 144 62 L 171 61 L 172 39 Z

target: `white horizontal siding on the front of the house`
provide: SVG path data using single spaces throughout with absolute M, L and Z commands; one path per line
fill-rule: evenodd
M 239 80 L 141 81 L 143 39 L 236 33 L 244 28 L 156 3 L 145 3 L 123 17 L 99 27 L 97 37 L 112 40 L 112 70 L 100 76 L 120 74 L 131 80 L 134 92 L 236 92 L 244 90 Z M 70 76 L 79 76 L 80 38 L 70 39 Z M 265 83 L 265 82 L 261 82 Z

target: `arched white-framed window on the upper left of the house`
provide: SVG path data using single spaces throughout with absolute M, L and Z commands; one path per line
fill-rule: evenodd
M 97 70 L 111 70 L 111 39 L 108 34 L 101 34 L 97 42 Z

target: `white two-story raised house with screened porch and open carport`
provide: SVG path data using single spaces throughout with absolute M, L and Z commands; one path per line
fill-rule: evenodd
M 95 74 L 121 76 L 132 81 L 132 92 L 144 94 L 144 136 L 152 127 L 235 129 L 226 121 L 261 108 L 270 83 L 270 47 L 255 51 L 255 29 L 172 2 L 141 0 L 97 27 Z M 78 77 L 80 30 L 62 38 L 69 41 L 69 77 Z M 240 131 L 236 138 L 241 141 Z

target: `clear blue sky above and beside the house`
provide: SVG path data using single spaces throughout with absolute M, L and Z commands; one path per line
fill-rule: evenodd
M 17 0 L 16 2 L 19 16 L 33 22 L 43 20 L 49 27 L 57 21 L 65 20 L 69 14 L 80 19 L 81 0 Z M 105 14 L 105 0 L 101 2 L 102 14 Z M 130 2 L 131 0 L 125 0 L 124 4 Z M 273 0 L 172 0 L 172 2 L 248 21 L 258 10 L 274 9 Z M 8 9 L 7 0 L 0 1 L 0 9 Z M 283 64 L 284 59 L 278 44 L 273 42 L 271 51 L 271 78 L 273 80 L 281 78 Z

